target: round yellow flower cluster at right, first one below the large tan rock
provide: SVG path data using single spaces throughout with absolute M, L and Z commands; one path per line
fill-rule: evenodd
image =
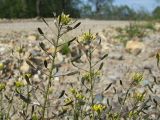
M 139 84 L 143 80 L 143 74 L 136 72 L 132 75 L 132 80 L 136 83 Z

